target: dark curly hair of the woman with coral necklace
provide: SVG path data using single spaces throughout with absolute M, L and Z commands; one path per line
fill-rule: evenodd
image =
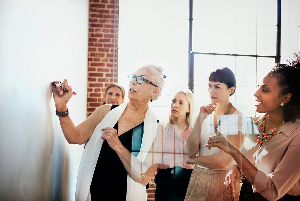
M 276 64 L 269 72 L 277 79 L 282 95 L 292 94 L 290 101 L 283 105 L 283 119 L 286 122 L 295 122 L 296 118 L 300 119 L 300 64 L 299 56 L 295 54 L 295 57 L 295 61 L 288 60 L 291 65 Z

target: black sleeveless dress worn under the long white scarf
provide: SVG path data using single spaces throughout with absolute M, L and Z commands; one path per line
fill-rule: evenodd
M 111 109 L 119 105 L 112 105 Z M 119 136 L 122 145 L 137 156 L 142 142 L 144 123 Z M 118 131 L 118 122 L 113 127 Z M 133 137 L 134 135 L 134 137 Z M 117 153 L 103 142 L 90 186 L 91 200 L 126 200 L 127 171 Z

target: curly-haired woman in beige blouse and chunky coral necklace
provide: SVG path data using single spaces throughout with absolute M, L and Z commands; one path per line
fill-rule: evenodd
M 234 158 L 224 184 L 234 195 L 232 182 L 244 179 L 239 200 L 300 200 L 300 53 L 295 57 L 273 67 L 254 94 L 256 111 L 266 114 L 251 119 L 240 151 L 221 133 L 205 145 Z

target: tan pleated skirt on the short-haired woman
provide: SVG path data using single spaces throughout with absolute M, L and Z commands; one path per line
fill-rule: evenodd
M 184 201 L 237 201 L 241 185 L 235 180 L 235 197 L 224 185 L 228 170 L 210 170 L 195 166 Z

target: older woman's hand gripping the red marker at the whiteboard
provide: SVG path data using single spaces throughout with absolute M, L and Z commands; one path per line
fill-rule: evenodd
M 55 85 L 52 85 L 52 94 L 53 94 L 53 99 L 55 102 L 55 107 L 57 111 L 59 112 L 66 112 L 67 111 L 67 102 L 73 95 L 72 87 L 68 85 L 68 81 L 64 79 L 63 83 L 59 83 L 59 81 L 53 81 L 53 84 L 61 84 L 64 86 L 68 91 L 65 91 L 61 88 L 56 87 Z

